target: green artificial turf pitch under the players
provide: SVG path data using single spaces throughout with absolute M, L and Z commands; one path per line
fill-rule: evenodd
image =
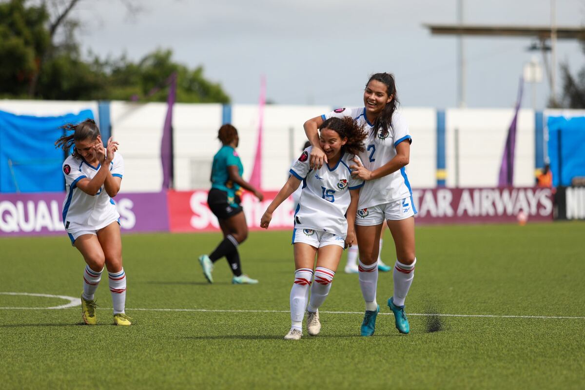
M 359 336 L 363 301 L 344 256 L 321 334 L 283 340 L 290 236 L 253 232 L 240 247 L 259 285 L 230 284 L 224 260 L 209 285 L 197 256 L 218 233 L 125 235 L 130 327 L 111 325 L 107 277 L 93 327 L 80 325 L 79 307 L 34 309 L 66 300 L 0 294 L 0 388 L 585 387 L 585 223 L 417 228 L 411 334 L 387 314 L 389 272 L 369 338 Z M 0 239 L 0 292 L 79 296 L 84 262 L 68 242 Z M 386 232 L 388 264 L 391 242 Z

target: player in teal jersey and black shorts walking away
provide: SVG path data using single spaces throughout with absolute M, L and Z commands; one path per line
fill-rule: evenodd
M 244 167 L 236 152 L 240 140 L 238 130 L 232 125 L 223 125 L 219 128 L 218 139 L 223 146 L 214 156 L 211 168 L 212 184 L 207 204 L 219 220 L 223 240 L 209 256 L 207 254 L 199 256 L 199 263 L 207 281 L 213 283 L 211 271 L 214 269 L 214 263 L 225 256 L 233 273 L 232 284 L 257 284 L 256 279 L 242 273 L 240 265 L 238 246 L 248 236 L 246 216 L 240 206 L 242 192 L 240 187 L 253 192 L 260 201 L 263 195 L 242 178 Z

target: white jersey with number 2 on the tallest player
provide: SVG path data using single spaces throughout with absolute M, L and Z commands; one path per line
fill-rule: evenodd
M 362 159 L 364 167 L 369 171 L 374 171 L 392 160 L 396 156 L 396 146 L 402 141 L 412 143 L 412 137 L 408 132 L 408 123 L 398 111 L 395 111 L 392 115 L 392 126 L 388 129 L 388 136 L 385 139 L 380 139 L 377 136 L 373 125 L 366 118 L 366 108 L 364 107 L 339 108 L 321 115 L 321 118 L 326 120 L 332 116 L 337 118 L 351 116 L 359 125 L 364 125 L 364 129 L 368 130 L 368 137 L 364 140 L 366 151 L 360 153 L 359 157 Z M 381 133 L 381 130 L 379 132 Z M 412 189 L 410 188 L 406 171 L 402 167 L 390 175 L 366 181 L 360 191 L 360 201 L 357 208 L 365 209 L 382 205 L 411 195 Z

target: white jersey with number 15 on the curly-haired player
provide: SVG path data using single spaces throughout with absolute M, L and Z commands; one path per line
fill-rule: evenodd
M 312 146 L 305 149 L 301 157 L 292 164 L 291 174 L 302 180 L 302 192 L 295 211 L 295 229 L 324 230 L 347 236 L 345 213 L 351 202 L 350 189 L 364 185 L 361 179 L 352 177 L 349 165 L 355 164 L 353 154 L 343 153 L 334 168 L 327 164 L 320 170 L 309 168 Z

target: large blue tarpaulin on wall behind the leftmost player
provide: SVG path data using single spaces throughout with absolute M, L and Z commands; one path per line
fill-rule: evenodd
M 51 117 L 0 111 L 0 192 L 64 191 L 65 153 L 54 144 L 61 126 L 87 118 L 91 110 Z

